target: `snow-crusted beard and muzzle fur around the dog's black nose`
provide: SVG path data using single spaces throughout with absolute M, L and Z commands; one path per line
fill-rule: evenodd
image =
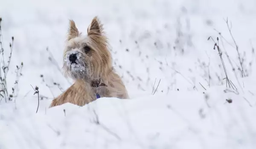
M 71 54 L 76 54 L 76 63 L 71 63 L 69 57 Z M 84 60 L 81 58 L 81 53 L 75 52 L 68 52 L 65 54 L 64 57 L 64 69 L 65 72 L 74 79 L 83 79 L 88 75 L 89 68 L 84 63 Z

